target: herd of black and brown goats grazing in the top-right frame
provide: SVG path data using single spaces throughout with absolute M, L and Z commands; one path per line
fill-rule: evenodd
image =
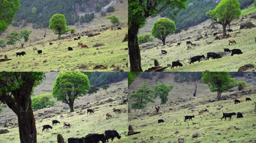
M 233 30 L 232 29 L 229 29 L 228 30 L 228 32 L 232 32 Z M 214 33 L 213 34 L 213 36 L 216 36 L 217 35 L 217 33 Z M 228 41 L 229 42 L 229 44 L 228 45 L 232 45 L 232 44 L 237 44 L 237 42 L 235 41 L 235 40 L 229 40 Z M 256 42 L 256 38 L 255 38 L 255 42 Z M 179 43 L 177 43 L 177 46 L 180 46 L 180 44 L 181 44 L 181 42 L 179 42 Z M 194 45 L 194 46 L 196 46 L 196 44 L 192 44 L 192 42 L 191 41 L 186 41 L 186 44 L 187 44 L 187 50 L 189 50 L 189 49 L 191 49 L 191 45 Z M 233 56 L 234 54 L 243 54 L 243 52 L 240 50 L 240 49 L 233 49 L 233 50 L 229 50 L 228 48 L 224 48 L 224 52 L 228 52 L 228 53 L 231 53 L 231 56 Z M 167 51 L 165 51 L 165 50 L 161 50 L 161 54 L 167 54 Z M 213 52 L 209 52 L 209 53 L 207 53 L 207 58 L 206 58 L 206 60 L 209 60 L 209 58 L 213 58 L 213 59 L 217 59 L 217 58 L 222 58 L 221 57 L 221 55 L 220 54 L 217 54 L 217 53 L 213 53 Z M 200 60 L 201 60 L 201 58 L 205 58 L 205 56 L 204 55 L 197 55 L 197 56 L 194 56 L 194 57 L 191 57 L 190 58 L 190 63 L 189 64 L 193 64 L 194 62 L 196 62 L 196 61 L 198 61 L 198 62 L 200 62 Z M 178 61 L 173 61 L 172 62 L 172 65 L 171 65 L 171 69 L 174 69 L 174 67 L 182 67 L 183 66 L 183 64 L 182 63 L 180 63 L 180 61 L 178 60 Z

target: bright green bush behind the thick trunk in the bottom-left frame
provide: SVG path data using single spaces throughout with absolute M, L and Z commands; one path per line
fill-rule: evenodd
M 49 105 L 54 105 L 55 101 L 50 100 L 52 97 L 51 94 L 42 94 L 35 96 L 31 99 L 32 109 L 42 109 Z

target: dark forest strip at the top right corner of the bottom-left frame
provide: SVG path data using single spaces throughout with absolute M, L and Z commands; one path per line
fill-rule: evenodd
M 127 72 L 92 72 L 89 76 L 90 85 L 101 86 L 127 79 Z

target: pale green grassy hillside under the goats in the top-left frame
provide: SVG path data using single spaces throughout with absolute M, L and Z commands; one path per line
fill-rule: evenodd
M 126 67 L 128 51 L 124 50 L 128 47 L 128 42 L 122 42 L 125 34 L 127 34 L 127 28 L 119 31 L 116 29 L 107 30 L 100 33 L 100 35 L 89 38 L 82 36 L 80 41 L 68 42 L 67 39 L 53 41 L 57 38 L 57 35 L 55 35 L 39 41 L 27 42 L 25 48 L 21 48 L 18 44 L 7 46 L 0 50 L 0 58 L 3 58 L 6 54 L 12 60 L 1 62 L 0 69 L 1 71 L 13 71 L 14 69 L 16 71 L 70 71 L 71 69 L 76 71 L 79 70 L 79 66 L 84 64 L 89 67 L 89 70 L 86 71 L 95 71 L 93 68 L 102 64 L 107 66 L 108 69 L 100 71 L 111 71 L 115 69 L 110 68 L 114 64 L 121 69 L 128 70 L 128 67 Z M 76 36 L 71 35 L 71 38 L 76 38 Z M 49 46 L 49 42 L 54 44 Z M 77 47 L 77 42 L 88 45 L 89 49 Z M 98 43 L 103 43 L 105 46 L 98 47 L 98 50 L 92 47 Z M 33 47 L 42 50 L 43 54 L 37 55 L 37 52 L 33 51 Z M 68 47 L 72 47 L 73 51 L 67 51 Z M 16 52 L 21 51 L 25 51 L 27 55 L 16 57 Z M 113 54 L 111 54 L 112 52 Z M 45 63 L 44 60 L 46 60 Z M 35 66 L 37 63 L 38 66 Z M 82 70 L 84 71 L 84 69 Z

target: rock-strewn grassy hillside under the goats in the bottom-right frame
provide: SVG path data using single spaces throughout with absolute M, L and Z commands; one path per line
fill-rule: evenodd
M 157 114 L 153 107 L 143 110 L 131 110 L 129 113 L 129 124 L 135 131 L 141 131 L 139 134 L 129 136 L 128 143 L 141 143 L 145 140 L 146 143 L 173 143 L 177 142 L 179 137 L 184 137 L 184 141 L 189 143 L 229 143 L 229 142 L 255 142 L 256 141 L 256 113 L 254 111 L 256 94 L 255 87 L 245 90 L 253 90 L 254 93 L 246 96 L 241 96 L 243 92 L 238 93 L 238 97 L 245 100 L 250 97 L 252 101 L 235 104 L 233 99 L 225 101 L 208 102 L 208 99 L 215 98 L 216 95 L 209 95 L 200 98 L 193 98 L 188 102 L 179 104 L 162 105 Z M 224 93 L 224 95 L 232 93 Z M 220 110 L 218 107 L 222 106 Z M 170 110 L 171 108 L 172 110 Z M 198 115 L 198 110 L 207 108 L 210 112 L 203 115 Z M 148 113 L 149 112 L 149 113 Z M 222 113 L 226 112 L 242 112 L 244 118 L 236 118 L 233 116 L 229 121 L 225 121 Z M 146 114 L 147 113 L 147 114 Z M 195 115 L 193 121 L 184 122 L 184 116 Z M 158 119 L 163 119 L 165 123 L 159 123 Z M 232 128 L 235 126 L 235 128 Z M 229 129 L 231 127 L 231 129 Z M 178 131 L 178 133 L 176 133 Z M 192 134 L 199 132 L 199 137 L 192 138 Z M 150 137 L 153 136 L 153 140 Z

